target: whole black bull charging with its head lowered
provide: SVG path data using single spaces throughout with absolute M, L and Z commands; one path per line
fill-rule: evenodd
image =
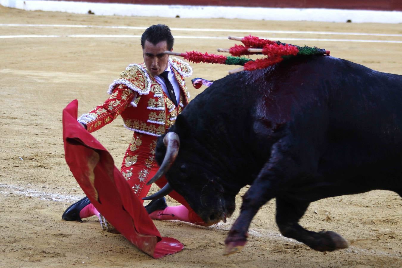
M 158 140 L 156 160 L 208 223 L 230 216 L 240 188 L 251 185 L 226 254 L 245 245 L 252 218 L 271 198 L 284 236 L 319 251 L 345 248 L 337 233 L 308 231 L 298 221 L 321 198 L 402 194 L 401 85 L 400 75 L 329 56 L 232 74 L 199 94 L 169 129 L 180 139 L 174 162 L 162 163 L 173 133 Z

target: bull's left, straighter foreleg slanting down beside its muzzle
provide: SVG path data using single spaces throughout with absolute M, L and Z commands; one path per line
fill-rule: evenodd
M 258 209 L 267 203 L 272 196 L 271 182 L 267 180 L 267 174 L 271 171 L 265 170 L 259 174 L 250 189 L 244 194 L 240 215 L 236 219 L 225 240 L 224 255 L 229 255 L 241 250 L 247 242 L 247 230 L 251 220 Z

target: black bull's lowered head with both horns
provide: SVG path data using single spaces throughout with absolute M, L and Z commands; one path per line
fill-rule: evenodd
M 179 118 L 180 115 L 178 121 Z M 232 215 L 235 209 L 234 198 L 238 191 L 228 187 L 217 176 L 213 161 L 206 159 L 208 152 L 203 143 L 191 136 L 189 129 L 183 133 L 183 128 L 177 129 L 176 125 L 158 139 L 156 161 L 160 169 L 148 182 L 151 184 L 166 175 L 168 183 L 144 199 L 157 199 L 176 190 L 205 223 L 226 222 L 226 217 Z

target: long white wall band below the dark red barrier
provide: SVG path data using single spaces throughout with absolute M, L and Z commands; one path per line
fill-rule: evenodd
M 141 5 L 96 2 L 0 0 L 0 5 L 23 10 L 60 11 L 96 15 L 163 16 L 180 18 L 242 18 L 309 20 L 353 23 L 402 23 L 401 11 L 326 8 L 254 8 L 232 6 Z

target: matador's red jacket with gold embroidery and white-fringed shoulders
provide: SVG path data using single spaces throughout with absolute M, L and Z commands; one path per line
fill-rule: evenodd
M 89 132 L 93 132 L 121 115 L 127 129 L 152 136 L 162 135 L 174 124 L 177 115 L 189 102 L 190 95 L 184 78 L 193 72 L 180 59 L 169 57 L 169 63 L 180 85 L 178 107 L 163 92 L 160 84 L 146 69 L 145 63 L 130 64 L 120 74 L 120 78 L 109 86 L 109 99 L 79 117 L 78 121 L 86 124 Z

